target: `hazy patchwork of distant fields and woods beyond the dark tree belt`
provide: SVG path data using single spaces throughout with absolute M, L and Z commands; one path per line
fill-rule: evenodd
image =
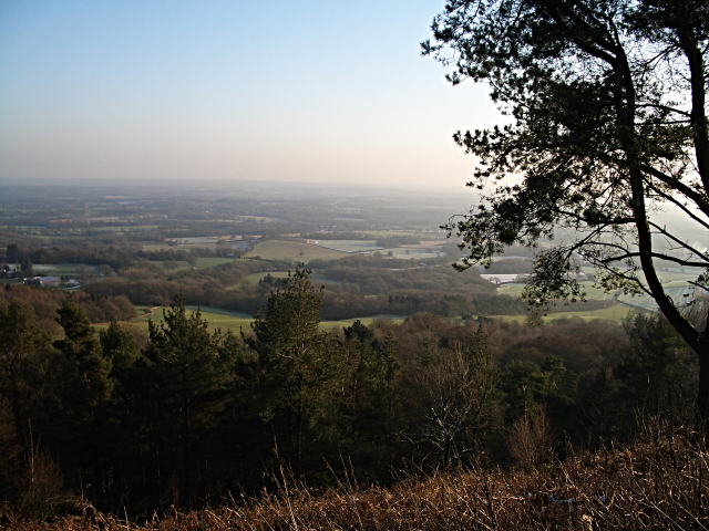
M 91 194 L 76 192 L 71 208 L 51 216 L 41 205 L 53 204 L 53 198 L 41 194 L 22 205 L 6 205 L 0 222 L 11 230 L 0 231 L 0 248 L 23 246 L 35 274 L 80 278 L 93 296 L 129 294 L 134 304 L 160 305 L 182 291 L 188 304 L 240 312 L 240 317 L 219 314 L 212 320 L 235 330 L 297 263 L 312 268 L 311 281 L 325 287 L 322 315 L 328 320 L 417 312 L 526 319 L 524 304 L 516 302 L 523 285 L 495 289 L 476 271 L 449 269 L 460 253 L 439 229 L 454 211 L 443 197 L 436 210 L 434 197 L 425 197 L 424 204 L 420 196 L 387 198 L 382 209 L 382 202 L 368 196 L 332 202 L 331 196 L 318 197 L 312 189 L 270 195 L 268 201 L 243 199 L 242 189 L 219 190 L 218 200 L 207 192 L 179 199 L 166 198 L 163 190 L 134 197 Z M 516 275 L 515 268 L 527 270 L 528 259 L 527 249 L 514 247 L 483 273 Z M 691 295 L 690 277 L 661 273 L 680 298 Z M 604 293 L 592 282 L 583 285 L 592 301 L 588 310 L 574 308 L 546 319 L 563 313 L 617 321 L 628 308 L 649 308 L 641 298 Z M 512 299 L 485 302 L 496 295 Z M 604 301 L 625 304 L 595 304 Z

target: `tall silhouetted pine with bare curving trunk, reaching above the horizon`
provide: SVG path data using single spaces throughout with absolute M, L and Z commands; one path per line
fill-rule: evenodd
M 679 223 L 657 221 L 670 206 L 678 220 L 709 229 L 709 4 L 450 0 L 432 30 L 423 53 L 452 65 L 453 84 L 487 83 L 513 119 L 454 135 L 480 158 L 469 186 L 487 190 L 445 226 L 469 251 L 459 268 L 522 243 L 537 249 L 525 290 L 533 305 L 583 300 L 574 273 L 584 261 L 606 289 L 650 295 L 698 355 L 698 414 L 709 430 L 707 316 L 692 325 L 658 275 L 666 266 L 699 268 L 692 283 L 707 289 L 709 254 Z M 553 247 L 537 247 L 559 231 Z

